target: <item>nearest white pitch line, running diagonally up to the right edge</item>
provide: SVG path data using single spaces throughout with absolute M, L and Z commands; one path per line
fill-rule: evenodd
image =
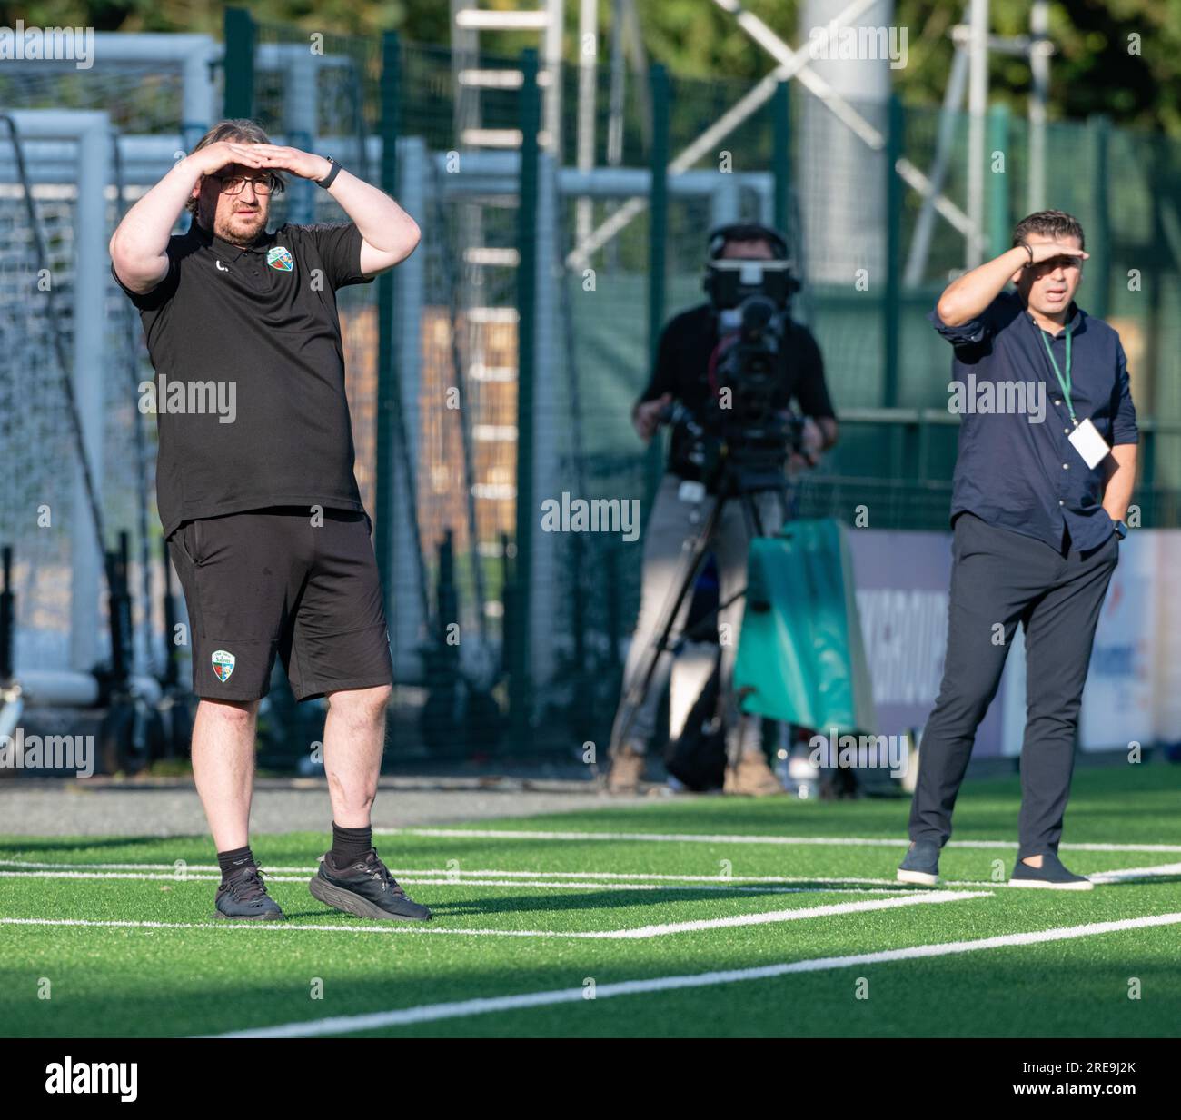
M 774 979 L 794 972 L 823 972 L 831 969 L 848 969 L 866 964 L 887 964 L 894 961 L 913 961 L 924 957 L 945 957 L 952 953 L 980 952 L 1011 945 L 1037 945 L 1046 942 L 1069 940 L 1076 937 L 1095 937 L 1102 933 L 1118 933 L 1124 930 L 1141 930 L 1151 926 L 1176 925 L 1181 913 L 1150 914 L 1143 918 L 1125 918 L 1121 922 L 1097 922 L 1090 925 L 1059 926 L 1032 933 L 1009 933 L 986 937 L 974 942 L 945 942 L 935 945 L 913 945 L 909 949 L 887 949 L 880 952 L 856 953 L 849 957 L 818 957 L 791 961 L 785 964 L 762 965 L 752 969 L 730 969 L 718 972 L 699 972 L 696 976 L 660 976 L 653 979 L 622 981 L 615 984 L 596 984 L 595 1002 L 612 996 L 646 995 L 654 991 L 673 991 L 685 988 L 710 988 L 716 984 L 733 984 L 740 981 Z M 555 1003 L 582 1003 L 585 990 L 565 988 L 553 991 L 531 991 L 516 996 L 497 996 L 484 999 L 461 999 L 451 1003 L 432 1003 L 394 1011 L 377 1011 L 366 1015 L 337 1015 L 276 1027 L 259 1027 L 250 1030 L 233 1030 L 216 1035 L 218 1038 L 301 1038 L 315 1035 L 353 1034 L 360 1030 L 379 1030 L 385 1027 L 406 1027 L 432 1023 L 444 1018 L 464 1018 L 470 1015 L 487 1015 L 492 1011 L 516 1011 L 522 1008 L 549 1007 Z

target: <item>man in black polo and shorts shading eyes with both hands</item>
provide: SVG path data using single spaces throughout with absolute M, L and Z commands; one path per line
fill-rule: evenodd
M 268 233 L 285 172 L 352 221 Z M 182 208 L 193 224 L 170 236 Z M 249 848 L 255 719 L 278 655 L 296 698 L 328 701 L 333 841 L 313 896 L 368 918 L 430 918 L 372 846 L 392 666 L 335 301 L 418 239 L 387 195 L 250 121 L 210 130 L 111 239 L 156 370 L 157 503 L 191 625 L 193 775 L 222 872 L 217 917 L 283 917 Z

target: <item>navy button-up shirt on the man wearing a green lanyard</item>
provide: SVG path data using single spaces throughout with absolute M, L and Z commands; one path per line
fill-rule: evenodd
M 1102 506 L 1104 468 L 1110 460 L 1091 469 L 1075 450 L 1069 438 L 1070 410 L 1045 347 L 1049 341 L 1065 376 L 1066 332 L 1043 331 L 1016 292 L 1001 292 L 978 318 L 961 326 L 946 326 L 938 311 L 927 318 L 955 347 L 952 389 L 959 383 L 960 399 L 968 403 L 960 423 L 952 520 L 967 510 L 1055 549 L 1062 548 L 1064 528 L 1070 530 L 1074 548 L 1103 545 L 1114 530 Z M 1111 445 L 1137 443 L 1120 336 L 1074 302 L 1068 326 L 1075 416 L 1079 423 L 1089 418 Z M 1014 392 L 1018 384 L 1025 386 L 1024 399 L 1031 405 L 1044 401 L 1042 422 L 1033 408 L 994 411 L 993 404 L 990 409 L 990 395 L 993 402 L 1023 399 L 1020 391 Z M 973 406 L 973 401 L 983 408 Z

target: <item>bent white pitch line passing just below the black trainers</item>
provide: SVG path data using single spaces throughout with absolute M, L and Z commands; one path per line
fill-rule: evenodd
M 588 940 L 632 940 L 665 937 L 699 930 L 718 930 L 739 925 L 768 925 L 805 918 L 827 918 L 833 914 L 857 913 L 867 910 L 892 910 L 895 906 L 921 906 L 928 903 L 958 903 L 968 898 L 991 898 L 988 891 L 927 891 L 896 898 L 874 899 L 866 903 L 833 903 L 828 906 L 807 906 L 800 910 L 772 910 L 768 913 L 742 914 L 735 918 L 707 918 L 699 922 L 672 922 L 666 925 L 645 925 L 627 930 L 462 930 L 438 926 L 411 925 L 305 925 L 285 922 L 119 922 L 90 918 L 0 918 L 0 925 L 89 926 L 130 930 L 267 930 L 268 932 L 299 932 L 313 930 L 333 933 L 452 933 L 468 937 L 574 937 Z

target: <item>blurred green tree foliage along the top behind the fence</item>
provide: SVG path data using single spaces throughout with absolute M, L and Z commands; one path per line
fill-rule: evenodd
M 524 0 L 472 0 L 481 7 L 526 7 Z M 702 78 L 755 79 L 771 58 L 739 30 L 713 0 L 637 0 L 648 57 L 672 72 Z M 376 35 L 396 28 L 416 43 L 445 44 L 450 37 L 446 0 L 259 0 L 247 5 L 262 21 L 293 24 L 308 32 Z M 745 7 L 794 46 L 801 0 L 746 0 Z M 578 4 L 566 5 L 567 58 L 575 57 Z M 612 0 L 599 0 L 603 48 Z M 1030 0 L 992 0 L 992 30 L 1004 35 L 1029 31 Z M 963 0 L 896 0 L 895 22 L 907 28 L 908 60 L 895 71 L 896 89 L 908 103 L 938 104 L 951 67 L 951 28 L 966 15 Z M 196 31 L 221 33 L 222 8 L 201 0 L 31 0 L 0 4 L 0 24 L 92 26 L 98 31 Z M 1051 66 L 1051 118 L 1108 113 L 1115 122 L 1181 135 L 1181 0 L 1055 0 L 1050 35 L 1057 47 Z M 515 53 L 536 37 L 488 35 L 494 53 Z M 991 97 L 1024 111 L 1030 69 L 1020 58 L 993 54 Z

